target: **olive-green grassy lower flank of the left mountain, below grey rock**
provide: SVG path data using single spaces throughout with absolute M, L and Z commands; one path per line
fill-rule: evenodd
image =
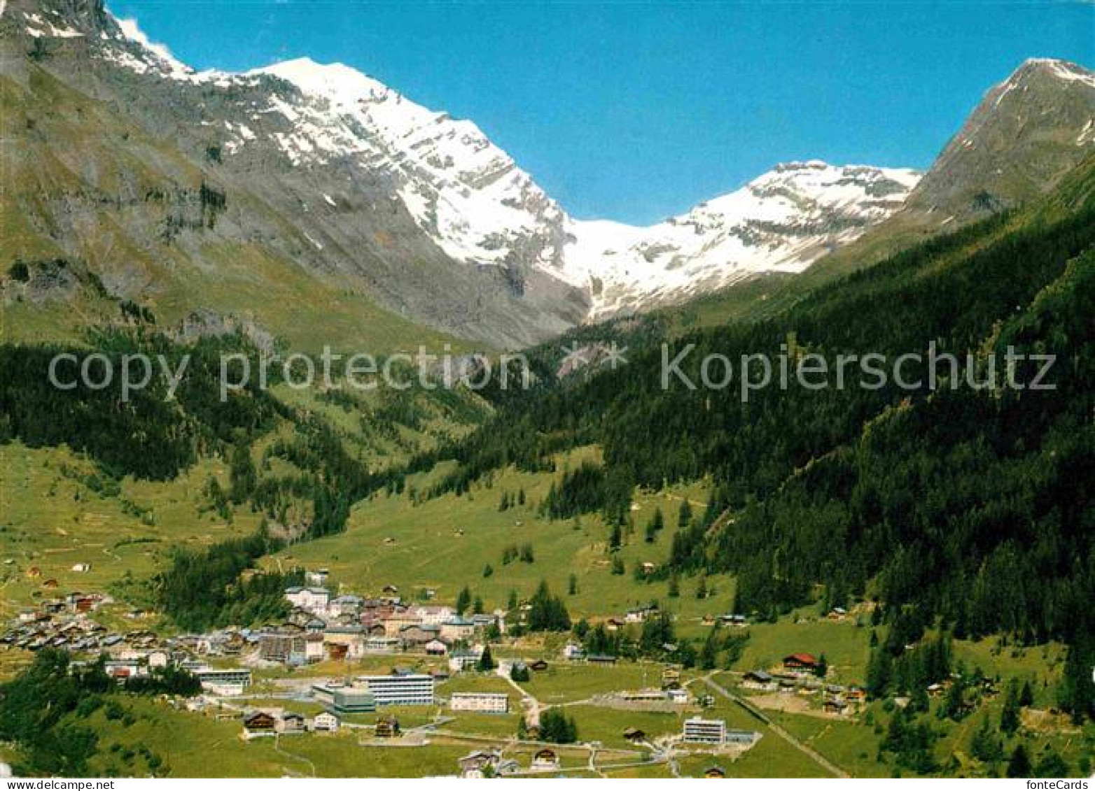
M 330 345 L 382 354 L 419 344 L 472 348 L 380 307 L 364 280 L 309 271 L 262 241 L 198 230 L 149 243 L 143 236 L 157 223 L 196 211 L 196 196 L 218 174 L 48 71 L 27 63 L 22 69 L 19 79 L 0 75 L 0 136 L 9 141 L 0 152 L 0 342 L 80 341 L 88 327 L 122 319 L 120 298 L 111 294 L 126 294 L 165 328 L 193 311 L 214 311 L 295 349 Z M 84 213 L 87 206 L 93 213 Z M 264 218 L 286 237 L 310 244 L 246 191 L 232 191 L 231 211 Z M 71 234 L 74 229 L 79 233 Z M 31 288 L 9 275 L 16 261 L 55 259 L 110 288 Z

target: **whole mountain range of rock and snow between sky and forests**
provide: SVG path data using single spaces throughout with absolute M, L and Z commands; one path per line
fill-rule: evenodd
M 70 258 L 107 296 L 169 321 L 240 314 L 290 340 L 301 322 L 326 321 L 349 338 L 370 337 L 355 326 L 368 322 L 399 327 L 393 337 L 425 324 L 528 345 L 759 274 L 800 272 L 898 212 L 910 191 L 940 224 L 954 214 L 952 193 L 994 206 L 1023 191 L 1010 173 L 995 193 L 975 178 L 983 168 L 970 152 L 991 156 L 991 147 L 952 143 L 926 186 L 908 170 L 792 163 L 649 228 L 581 221 L 471 121 L 342 65 L 195 72 L 101 0 L 9 0 L 0 33 L 12 164 L 4 258 Z M 1028 140 L 1016 168 L 1037 188 L 1052 173 L 1028 164 L 1046 137 L 1028 127 L 1074 138 L 1095 91 L 1079 67 L 1030 71 L 998 89 L 1022 128 L 979 109 L 959 137 Z M 1077 91 L 1087 93 L 1054 115 Z

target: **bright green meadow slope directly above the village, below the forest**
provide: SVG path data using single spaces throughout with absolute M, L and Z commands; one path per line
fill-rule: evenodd
M 596 449 L 580 449 L 555 463 L 562 472 L 596 456 Z M 610 528 L 599 515 L 554 522 L 538 515 L 538 505 L 557 474 L 509 468 L 474 486 L 466 496 L 450 493 L 416 503 L 443 473 L 445 467 L 412 476 L 402 495 L 378 493 L 356 504 L 345 533 L 288 547 L 268 565 L 325 566 L 347 590 L 380 593 L 384 585 L 394 584 L 413 597 L 415 591 L 434 589 L 441 601 L 454 601 L 466 584 L 483 597 L 487 610 L 505 608 L 510 591 L 519 598 L 530 596 L 541 580 L 553 592 L 567 594 L 574 574 L 577 593 L 565 595 L 572 617 L 622 616 L 630 606 L 657 600 L 678 612 L 681 626 L 693 633 L 703 615 L 725 613 L 733 606 L 734 584 L 724 575 L 708 579 L 714 594 L 704 600 L 695 597 L 696 580 L 683 581 L 680 597 L 670 600 L 667 580 L 647 583 L 634 577 L 638 563 L 665 563 L 681 500 L 688 498 L 695 511 L 705 504 L 702 482 L 636 492 L 635 532 L 619 552 L 625 573 L 613 574 L 607 547 Z M 504 493 L 516 499 L 521 490 L 525 505 L 499 511 Z M 644 527 L 655 509 L 661 509 L 668 526 L 654 543 L 647 543 Z M 532 546 L 533 562 L 504 562 L 507 547 L 525 545 Z M 484 577 L 487 566 L 493 573 Z

